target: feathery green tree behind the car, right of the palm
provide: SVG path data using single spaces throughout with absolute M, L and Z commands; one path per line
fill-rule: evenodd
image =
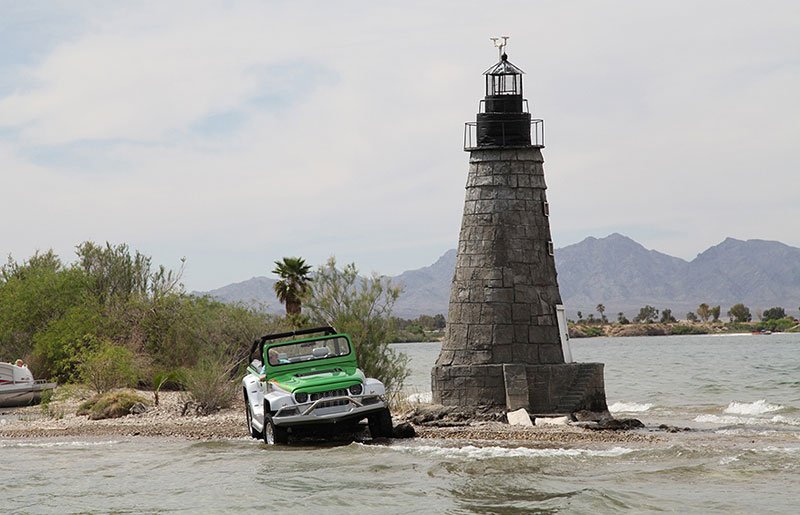
M 340 269 L 331 257 L 317 268 L 306 302 L 312 321 L 350 335 L 359 366 L 368 377 L 383 382 L 390 398 L 400 392 L 409 374 L 408 357 L 389 347 L 392 308 L 401 291 L 387 277 L 359 277 L 354 263 Z

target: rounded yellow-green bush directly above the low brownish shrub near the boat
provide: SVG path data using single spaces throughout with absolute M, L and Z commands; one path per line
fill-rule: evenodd
M 97 393 L 133 386 L 137 373 L 134 356 L 125 347 L 102 342 L 80 365 L 81 379 Z

